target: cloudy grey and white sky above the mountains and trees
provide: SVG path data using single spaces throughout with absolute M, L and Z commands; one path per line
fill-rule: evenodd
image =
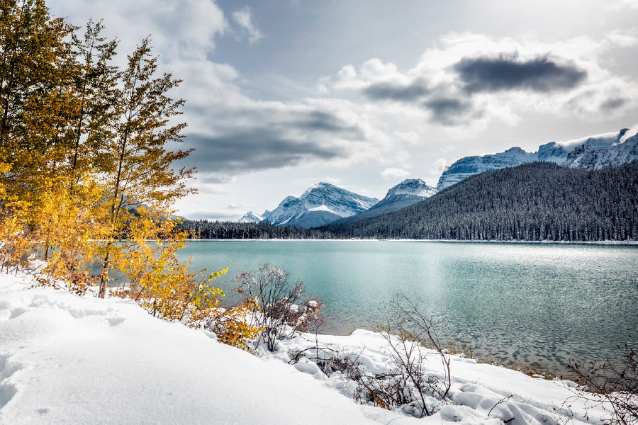
M 184 79 L 189 218 L 236 220 L 328 181 L 382 198 L 460 157 L 638 123 L 638 0 L 48 0 L 152 35 Z

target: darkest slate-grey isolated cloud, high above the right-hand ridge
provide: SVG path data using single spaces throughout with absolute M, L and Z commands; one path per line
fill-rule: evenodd
M 498 58 L 465 58 L 454 65 L 469 94 L 479 91 L 572 89 L 587 72 L 571 64 L 557 64 L 547 57 L 518 62 L 515 55 Z

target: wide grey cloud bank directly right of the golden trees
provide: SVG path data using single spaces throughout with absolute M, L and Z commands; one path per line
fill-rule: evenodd
M 180 165 L 196 166 L 205 183 L 225 183 L 224 176 L 233 173 L 346 158 L 352 154 L 349 141 L 366 140 L 358 125 L 320 110 L 229 109 L 218 111 L 215 122 L 215 135 L 194 132 L 184 138 L 185 147 L 195 151 Z

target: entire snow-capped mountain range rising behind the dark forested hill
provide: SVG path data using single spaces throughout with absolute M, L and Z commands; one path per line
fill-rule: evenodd
M 512 147 L 505 152 L 458 159 L 432 188 L 420 179 L 402 181 L 381 200 L 318 183 L 299 198 L 288 196 L 272 211 L 247 212 L 238 222 L 267 222 L 277 226 L 318 227 L 330 222 L 348 223 L 401 210 L 429 198 L 469 176 L 531 162 L 552 162 L 577 169 L 603 169 L 638 159 L 638 128 L 540 145 L 537 152 Z

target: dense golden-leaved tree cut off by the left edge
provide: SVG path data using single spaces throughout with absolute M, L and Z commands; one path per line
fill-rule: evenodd
M 13 260 L 35 247 L 31 212 L 64 152 L 59 132 L 74 108 L 73 30 L 42 0 L 0 0 L 0 208 L 4 252 Z

